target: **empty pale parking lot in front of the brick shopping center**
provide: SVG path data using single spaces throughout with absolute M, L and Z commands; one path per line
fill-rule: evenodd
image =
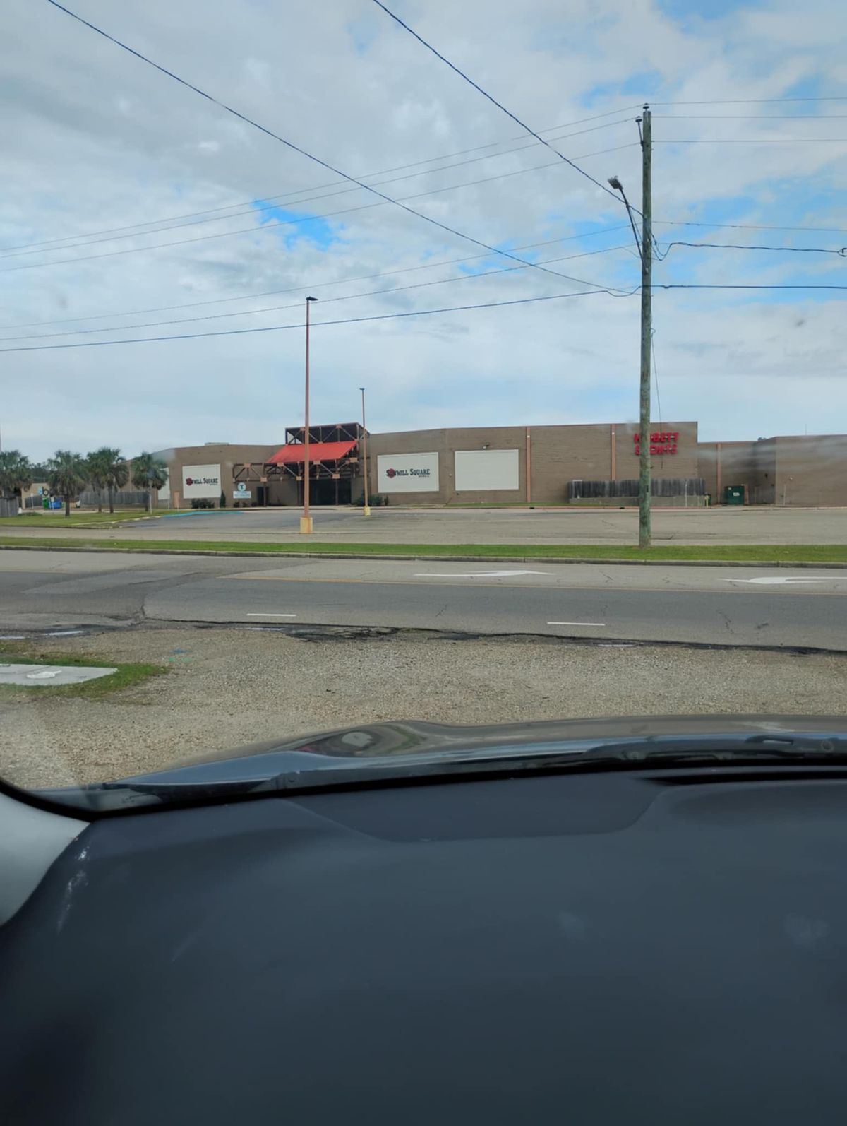
M 76 530 L 61 513 L 43 513 L 38 527 L 3 525 L 3 536 L 76 536 L 84 539 L 187 539 L 303 543 L 299 509 L 184 512 L 128 521 L 117 529 Z M 314 510 L 313 543 L 391 544 L 634 544 L 638 510 L 373 509 Z M 847 508 L 654 509 L 656 544 L 844 544 Z

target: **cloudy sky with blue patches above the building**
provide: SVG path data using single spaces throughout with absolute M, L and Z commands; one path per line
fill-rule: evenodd
M 67 7 L 418 215 L 6 0 L 4 449 L 281 444 L 307 295 L 314 422 L 358 419 L 362 385 L 372 431 L 634 421 L 640 261 L 601 186 L 641 207 L 643 102 L 654 418 L 704 440 L 847 430 L 847 291 L 810 288 L 847 285 L 847 251 L 817 252 L 847 245 L 843 3 L 388 6 L 593 179 L 371 0 Z M 709 285 L 800 288 L 690 288 Z M 399 315 L 453 306 L 487 307 Z

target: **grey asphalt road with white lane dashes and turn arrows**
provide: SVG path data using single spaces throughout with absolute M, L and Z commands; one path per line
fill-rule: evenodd
M 0 553 L 0 628 L 361 626 L 847 650 L 847 570 Z

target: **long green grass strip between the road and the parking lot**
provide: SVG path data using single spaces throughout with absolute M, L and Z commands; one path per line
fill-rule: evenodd
M 337 544 L 337 543 L 238 543 L 226 539 L 85 539 L 58 536 L 2 536 L 0 547 L 47 548 L 53 551 L 126 551 L 126 552 L 184 552 L 187 555 L 226 552 L 237 555 L 334 555 L 334 556 L 399 556 L 421 558 L 441 556 L 467 558 L 477 556 L 490 560 L 609 560 L 622 562 L 667 563 L 844 563 L 847 564 L 847 545 L 844 544 L 732 544 L 705 546 L 659 545 L 641 549 L 623 544 Z

